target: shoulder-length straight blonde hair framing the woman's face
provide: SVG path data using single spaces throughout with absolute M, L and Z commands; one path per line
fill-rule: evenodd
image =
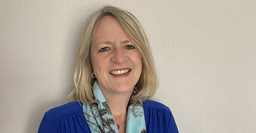
M 69 98 L 73 101 L 81 101 L 82 103 L 95 102 L 91 89 L 95 79 L 91 76 L 90 44 L 100 21 L 107 15 L 116 18 L 121 28 L 135 44 L 141 55 L 142 71 L 136 84 L 138 94 L 134 97 L 134 100 L 147 100 L 156 93 L 158 87 L 155 63 L 147 35 L 134 15 L 113 6 L 105 6 L 93 12 L 85 22 L 85 29 L 79 45 L 77 64 L 74 72 L 75 89 L 71 92 Z

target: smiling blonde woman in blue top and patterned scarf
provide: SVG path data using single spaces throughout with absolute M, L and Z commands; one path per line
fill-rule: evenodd
M 88 18 L 74 82 L 76 102 L 46 112 L 38 133 L 178 132 L 170 109 L 147 100 L 156 70 L 146 33 L 128 11 L 105 6 Z

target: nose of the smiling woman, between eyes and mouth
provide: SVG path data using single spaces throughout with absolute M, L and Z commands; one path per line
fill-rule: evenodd
M 111 62 L 116 62 L 117 64 L 122 64 L 127 59 L 124 51 L 121 48 L 116 48 L 113 50 L 113 56 L 111 57 Z

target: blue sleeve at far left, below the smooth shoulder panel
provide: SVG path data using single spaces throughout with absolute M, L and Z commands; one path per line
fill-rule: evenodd
M 38 133 L 56 133 L 52 122 L 49 120 L 46 114 L 44 114 L 44 117 L 40 123 Z

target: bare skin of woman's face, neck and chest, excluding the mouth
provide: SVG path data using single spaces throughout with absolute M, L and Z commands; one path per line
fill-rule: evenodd
M 105 16 L 96 30 L 90 48 L 93 73 L 110 107 L 116 124 L 126 120 L 127 105 L 138 82 L 141 56 L 113 16 Z M 115 77 L 110 71 L 129 68 L 129 75 Z M 125 133 L 126 123 L 120 126 Z

